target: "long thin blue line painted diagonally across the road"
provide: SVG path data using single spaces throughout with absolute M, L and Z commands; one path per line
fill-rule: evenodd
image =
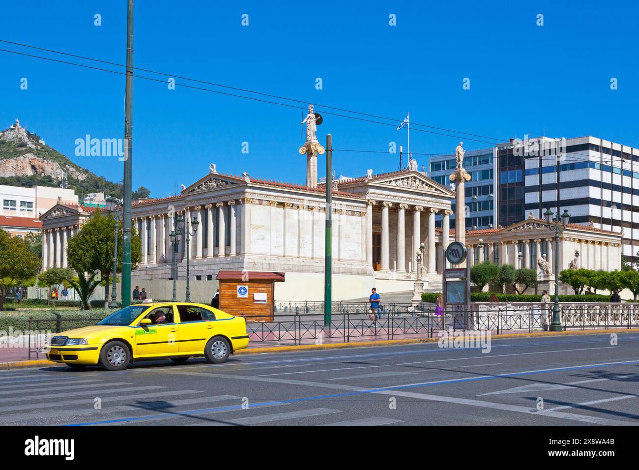
M 335 394 L 332 394 L 332 395 L 307 396 L 307 397 L 304 397 L 304 398 L 288 398 L 286 400 L 277 400 L 275 402 L 255 403 L 253 405 L 250 405 L 250 408 L 263 407 L 265 405 L 272 405 L 273 403 L 309 402 L 309 401 L 312 401 L 312 400 L 325 400 L 327 398 L 340 398 L 340 397 L 344 397 L 344 396 L 364 395 L 365 393 L 378 393 L 380 391 L 403 390 L 403 389 L 427 387 L 427 386 L 434 386 L 434 385 L 453 384 L 453 383 L 458 383 L 458 382 L 473 382 L 475 380 L 503 379 L 504 377 L 517 377 L 517 376 L 520 376 L 520 375 L 534 375 L 534 374 L 538 374 L 538 373 L 564 372 L 566 370 L 592 369 L 592 368 L 606 367 L 606 366 L 608 366 L 608 367 L 625 366 L 625 365 L 629 365 L 629 364 L 639 364 L 639 361 L 626 361 L 626 362 L 623 362 L 623 363 L 607 363 L 607 364 L 586 365 L 586 366 L 570 366 L 570 367 L 557 368 L 557 369 L 553 369 L 553 370 L 538 370 L 538 371 L 528 371 L 528 372 L 511 372 L 511 373 L 504 373 L 504 374 L 499 374 L 499 375 L 489 375 L 489 376 L 485 376 L 485 377 L 466 377 L 466 378 L 461 378 L 461 379 L 440 380 L 440 381 L 437 381 L 437 382 L 422 382 L 422 383 L 419 383 L 419 384 L 399 385 L 399 386 L 392 386 L 392 387 L 387 387 L 387 388 L 377 388 L 377 389 L 361 390 L 361 391 L 347 392 L 347 393 L 335 393 Z M 227 407 L 208 408 L 208 409 L 182 411 L 182 412 L 174 412 L 174 413 L 164 413 L 164 414 L 158 414 L 158 415 L 153 415 L 153 416 L 139 416 L 139 417 L 132 417 L 132 418 L 107 419 L 105 421 L 93 421 L 93 422 L 86 422 L 86 423 L 75 423 L 75 424 L 63 425 L 63 426 L 65 426 L 65 427 L 70 427 L 70 426 L 88 426 L 88 425 L 102 425 L 102 424 L 110 424 L 110 423 L 124 423 L 124 422 L 127 422 L 127 421 L 129 421 L 129 422 L 130 421 L 148 421 L 150 419 L 164 418 L 164 417 L 170 417 L 170 416 L 190 416 L 190 415 L 194 415 L 194 414 L 203 414 L 203 413 L 210 413 L 210 412 L 215 412 L 215 411 L 224 411 L 224 410 L 240 409 L 240 408 L 242 408 L 242 405 L 231 405 L 231 406 L 227 406 Z

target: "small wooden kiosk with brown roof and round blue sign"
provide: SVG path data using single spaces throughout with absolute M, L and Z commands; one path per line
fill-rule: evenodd
M 283 272 L 220 271 L 220 310 L 244 315 L 247 322 L 272 322 L 275 283 Z

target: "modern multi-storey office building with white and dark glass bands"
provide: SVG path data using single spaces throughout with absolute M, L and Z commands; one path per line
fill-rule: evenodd
M 637 162 L 638 149 L 593 136 L 511 139 L 466 152 L 464 167 L 472 174 L 466 184 L 466 227 L 507 227 L 530 213 L 543 219 L 546 208 L 556 214 L 559 200 L 571 223 L 623 231 L 622 254 L 639 260 Z M 433 156 L 429 176 L 449 184 L 454 168 L 454 155 Z

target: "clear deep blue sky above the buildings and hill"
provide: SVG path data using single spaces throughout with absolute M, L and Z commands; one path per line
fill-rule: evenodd
M 125 63 L 126 4 L 4 2 L 0 39 Z M 96 13 L 102 26 L 94 26 Z M 249 26 L 241 24 L 243 13 Z M 413 123 L 500 139 L 592 134 L 638 147 L 638 13 L 631 1 L 138 0 L 134 62 L 167 72 L 162 80 L 182 75 L 296 98 L 319 113 L 328 105 L 399 123 L 410 111 Z M 116 157 L 74 155 L 75 139 L 86 134 L 123 136 L 122 75 L 6 52 L 0 70 L 0 127 L 19 118 L 77 164 L 122 179 Z M 27 90 L 20 90 L 22 77 Z M 463 90 L 466 77 L 470 90 Z M 612 77 L 618 90 L 610 90 Z M 406 149 L 404 130 L 323 116 L 318 137 L 332 134 L 334 148 L 387 151 L 395 141 Z M 133 186 L 164 197 L 207 173 L 210 162 L 222 173 L 304 182 L 301 120 L 300 109 L 135 79 Z M 460 140 L 416 129 L 415 153 L 451 153 Z M 488 146 L 470 138 L 463 139 L 467 149 Z M 417 161 L 427 164 L 427 157 Z M 334 153 L 335 170 L 349 176 L 397 164 L 389 153 Z M 320 176 L 324 165 L 320 159 Z

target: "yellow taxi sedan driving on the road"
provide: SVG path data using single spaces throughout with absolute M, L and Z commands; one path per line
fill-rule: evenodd
M 204 356 L 213 364 L 249 345 L 246 320 L 190 302 L 149 302 L 119 309 L 97 325 L 51 338 L 47 359 L 72 368 L 122 370 L 133 361 Z

